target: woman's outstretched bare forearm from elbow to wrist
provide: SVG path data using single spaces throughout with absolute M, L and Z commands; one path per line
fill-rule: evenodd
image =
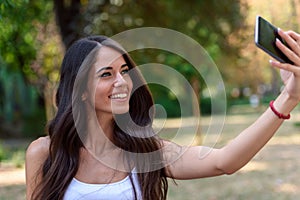
M 274 102 L 280 113 L 288 114 L 297 105 L 284 91 Z M 255 154 L 272 138 L 282 124 L 273 111 L 268 108 L 251 126 L 221 149 L 218 168 L 231 174 L 247 164 Z

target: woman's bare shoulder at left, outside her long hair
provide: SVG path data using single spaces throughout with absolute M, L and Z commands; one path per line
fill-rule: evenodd
M 49 154 L 49 146 L 49 136 L 34 140 L 26 150 L 26 160 L 45 160 Z

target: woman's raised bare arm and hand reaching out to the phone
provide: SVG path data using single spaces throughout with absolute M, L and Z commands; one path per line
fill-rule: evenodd
M 279 34 L 287 41 L 291 49 L 285 47 L 280 41 L 277 41 L 277 46 L 295 64 L 270 61 L 273 67 L 281 69 L 281 78 L 285 84 L 285 89 L 274 101 L 275 111 L 268 108 L 252 125 L 221 149 L 203 146 L 185 149 L 166 142 L 165 146 L 169 149 L 165 152 L 166 159 L 171 158 L 170 149 L 178 152 L 178 155 L 179 152 L 184 152 L 175 162 L 167 166 L 169 176 L 175 179 L 192 179 L 232 174 L 247 164 L 272 138 L 284 121 L 278 117 L 276 111 L 287 116 L 300 99 L 300 36 L 292 31 L 280 30 Z

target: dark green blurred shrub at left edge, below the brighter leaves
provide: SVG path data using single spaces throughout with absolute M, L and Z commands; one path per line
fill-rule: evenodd
M 32 136 L 41 133 L 40 124 L 45 121 L 43 105 L 39 104 L 40 95 L 32 85 L 25 84 L 21 75 L 0 69 L 2 96 L 0 98 L 0 136 Z M 12 129 L 5 128 L 11 126 Z M 22 133 L 18 127 L 21 126 Z

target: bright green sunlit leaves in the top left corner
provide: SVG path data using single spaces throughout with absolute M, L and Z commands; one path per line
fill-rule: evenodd
M 37 25 L 48 20 L 51 9 L 49 1 L 5 1 L 1 9 L 0 49 L 3 61 L 9 66 L 9 71 L 20 71 L 24 78 L 33 78 L 30 68 L 35 59 L 38 45 Z M 9 3 L 8 3 L 9 2 Z M 9 6 L 8 6 L 9 5 Z M 48 12 L 47 12 L 48 11 Z

